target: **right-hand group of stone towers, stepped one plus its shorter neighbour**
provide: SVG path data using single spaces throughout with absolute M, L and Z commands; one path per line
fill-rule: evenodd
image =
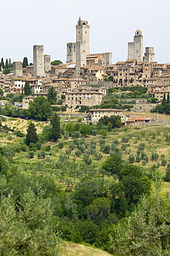
M 133 42 L 128 43 L 128 60 L 136 60 L 137 62 L 154 62 L 155 53 L 153 47 L 145 47 L 145 53 L 143 55 L 143 36 L 142 31 L 139 29 L 135 31 Z

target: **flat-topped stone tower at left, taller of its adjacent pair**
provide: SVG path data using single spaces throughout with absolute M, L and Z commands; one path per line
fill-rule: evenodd
M 44 46 L 33 46 L 33 76 L 44 77 Z

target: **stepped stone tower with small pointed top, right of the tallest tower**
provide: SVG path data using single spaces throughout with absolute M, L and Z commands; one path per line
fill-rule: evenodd
M 143 62 L 143 36 L 139 29 L 135 31 L 133 42 L 128 43 L 128 60 Z

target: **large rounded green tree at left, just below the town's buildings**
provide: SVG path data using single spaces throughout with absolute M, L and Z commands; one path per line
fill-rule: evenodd
M 38 120 L 47 120 L 52 114 L 52 108 L 48 99 L 43 96 L 39 96 L 30 102 L 28 108 L 29 116 Z

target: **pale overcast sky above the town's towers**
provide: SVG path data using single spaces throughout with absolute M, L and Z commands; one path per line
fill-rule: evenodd
M 32 46 L 44 45 L 51 60 L 66 62 L 79 16 L 91 26 L 91 53 L 127 59 L 127 43 L 142 30 L 155 61 L 170 63 L 170 0 L 1 0 L 0 58 L 32 62 Z

